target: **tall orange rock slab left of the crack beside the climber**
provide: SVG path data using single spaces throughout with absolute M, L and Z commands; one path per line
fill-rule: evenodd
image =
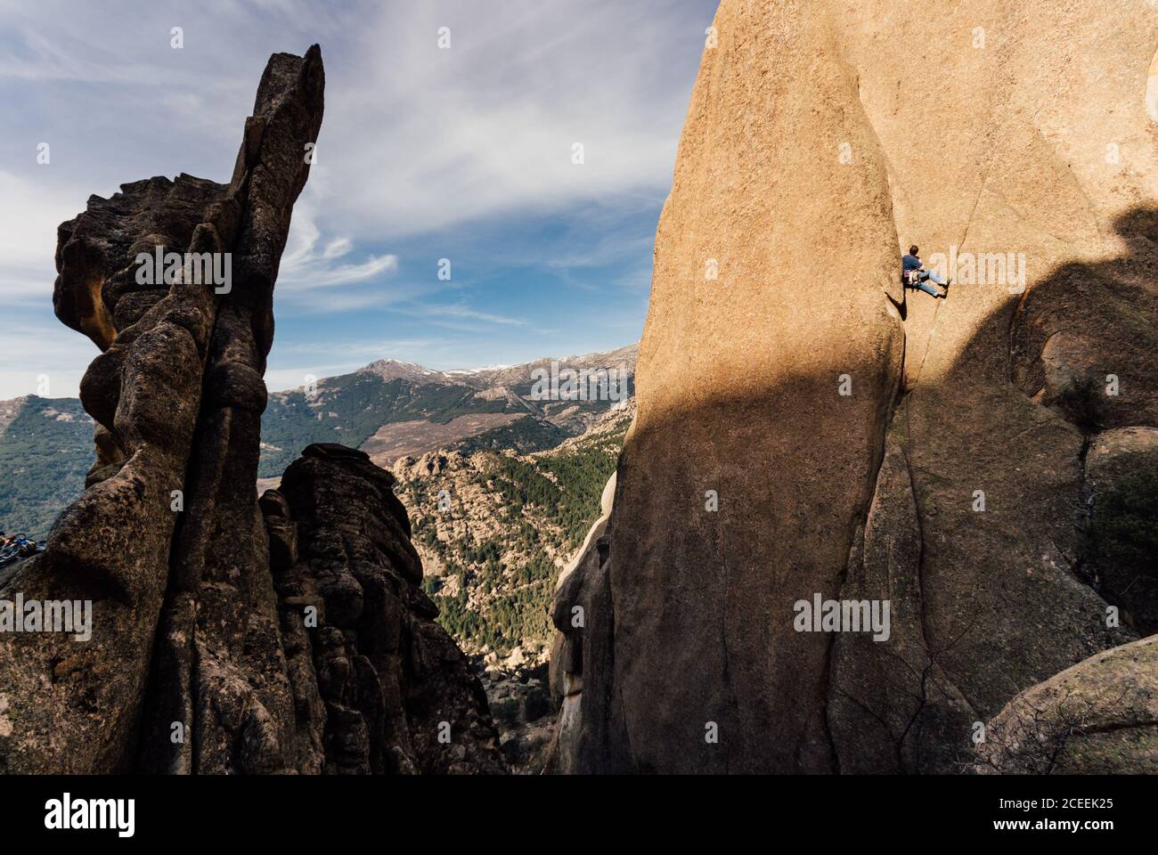
M 877 142 L 822 9 L 725 2 L 716 28 L 657 233 L 610 557 L 584 580 L 581 772 L 833 767 L 828 643 L 792 631 L 792 602 L 840 585 L 900 381 L 888 180 L 835 156 Z

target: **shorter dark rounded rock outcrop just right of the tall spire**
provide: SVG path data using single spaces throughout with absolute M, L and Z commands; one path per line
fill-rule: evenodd
M 505 770 L 486 696 L 419 587 L 394 476 L 312 445 L 264 494 L 305 770 Z M 274 542 L 283 546 L 272 548 Z M 290 545 L 295 543 L 295 549 Z M 296 550 L 300 558 L 291 561 Z

